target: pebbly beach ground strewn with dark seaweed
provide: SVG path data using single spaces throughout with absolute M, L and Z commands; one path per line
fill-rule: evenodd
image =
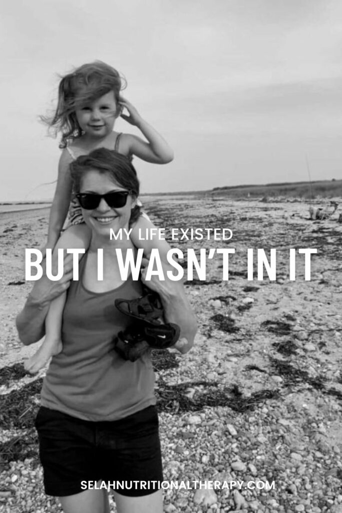
M 193 489 L 165 491 L 165 511 L 342 513 L 341 314 L 342 226 L 309 221 L 301 202 L 212 201 L 205 196 L 149 198 L 151 218 L 170 228 L 230 228 L 230 241 L 172 241 L 194 248 L 235 248 L 229 280 L 222 255 L 205 281 L 186 282 L 199 332 L 186 356 L 155 352 L 156 396 L 165 480 Z M 2 214 L 0 323 L 0 511 L 60 511 L 46 498 L 33 420 L 42 374 L 25 375 L 14 319 L 30 290 L 25 248 L 42 247 L 47 211 Z M 276 280 L 247 279 L 247 249 L 276 248 Z M 289 249 L 296 280 L 289 279 Z M 304 254 L 311 280 L 304 279 Z M 256 262 L 256 259 L 254 259 Z M 183 261 L 187 274 L 187 262 Z M 255 264 L 256 269 L 256 264 Z M 187 276 L 186 276 L 187 278 Z M 196 274 L 194 275 L 196 278 Z M 44 372 L 43 372 L 44 373 Z M 193 482 L 232 489 L 195 489 Z M 240 489 L 231 482 L 240 482 Z M 249 489 L 248 482 L 260 489 Z M 272 484 L 274 482 L 274 484 Z M 115 506 L 113 504 L 113 511 Z

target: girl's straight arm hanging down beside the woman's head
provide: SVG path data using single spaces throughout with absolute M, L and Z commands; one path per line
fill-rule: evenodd
M 57 185 L 50 210 L 48 242 L 46 247 L 52 249 L 59 239 L 70 205 L 72 180 L 69 165 L 71 162 L 71 155 L 64 149 L 59 159 Z

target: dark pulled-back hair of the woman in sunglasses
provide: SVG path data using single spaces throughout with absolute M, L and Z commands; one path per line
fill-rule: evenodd
M 98 171 L 109 175 L 110 179 L 120 187 L 132 191 L 133 196 L 138 196 L 140 184 L 132 163 L 125 155 L 107 148 L 98 148 L 88 155 L 81 155 L 70 164 L 70 173 L 74 190 L 81 190 L 82 177 L 85 171 Z M 137 205 L 132 208 L 130 226 L 137 221 L 141 208 Z

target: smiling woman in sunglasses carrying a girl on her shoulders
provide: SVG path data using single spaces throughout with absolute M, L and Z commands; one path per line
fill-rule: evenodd
M 134 323 L 115 308 L 115 299 L 139 297 L 142 283 L 122 281 L 115 249 L 125 259 L 133 246 L 126 238 L 110 240 L 109 234 L 128 230 L 137 219 L 139 183 L 129 161 L 104 148 L 79 157 L 71 173 L 86 207 L 91 243 L 79 263 L 79 280 L 68 291 L 63 350 L 52 358 L 36 419 L 45 490 L 60 498 L 65 513 L 109 513 L 106 489 L 85 490 L 82 481 L 97 486 L 102 480 L 127 481 L 126 489 L 114 491 L 119 513 L 161 513 L 162 490 L 134 485 L 163 480 L 150 351 L 130 362 L 113 344 L 116 334 Z M 103 281 L 97 280 L 98 248 L 103 248 Z M 24 344 L 42 337 L 49 301 L 69 283 L 70 260 L 66 264 L 61 283 L 51 285 L 46 278 L 37 283 L 18 315 Z M 143 269 L 142 281 L 145 274 Z M 153 276 L 147 285 L 159 293 L 165 320 L 180 327 L 175 347 L 187 352 L 196 323 L 182 284 Z

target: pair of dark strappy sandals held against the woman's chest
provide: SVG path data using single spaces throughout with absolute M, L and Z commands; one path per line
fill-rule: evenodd
M 135 362 L 150 348 L 167 349 L 179 339 L 177 324 L 163 324 L 164 308 L 156 292 L 147 290 L 140 298 L 116 299 L 116 308 L 137 322 L 119 331 L 114 340 L 115 350 L 124 360 Z

